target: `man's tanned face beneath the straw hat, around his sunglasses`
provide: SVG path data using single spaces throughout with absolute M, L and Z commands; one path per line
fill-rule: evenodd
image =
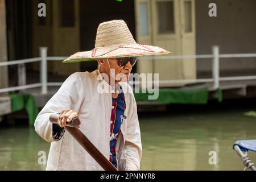
M 101 71 L 106 73 L 109 76 L 109 78 L 114 76 L 115 81 L 121 81 L 120 78 L 122 77 L 122 81 L 129 81 L 131 69 L 133 68 L 130 64 L 130 61 L 126 65 L 123 65 L 121 67 L 118 65 L 118 61 L 115 58 L 109 58 L 108 60 L 101 59 L 101 60 L 98 60 L 98 63 L 100 63 L 101 65 Z M 114 72 L 112 70 L 113 76 L 112 76 L 112 73 L 110 73 L 109 67 L 111 69 L 114 69 Z

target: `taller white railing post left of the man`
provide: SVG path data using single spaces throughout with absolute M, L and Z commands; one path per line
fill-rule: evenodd
M 39 47 L 41 57 L 40 80 L 42 84 L 42 94 L 47 93 L 47 49 L 48 47 Z

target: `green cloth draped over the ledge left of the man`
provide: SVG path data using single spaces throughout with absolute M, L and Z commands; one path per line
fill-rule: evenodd
M 38 115 L 38 107 L 34 97 L 31 94 L 9 93 L 11 98 L 11 109 L 13 112 L 26 109 L 29 124 L 34 125 L 36 116 Z

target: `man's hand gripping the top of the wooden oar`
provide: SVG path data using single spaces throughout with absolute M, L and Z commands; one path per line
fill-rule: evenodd
M 71 109 L 62 109 L 58 117 L 58 125 L 60 127 L 65 127 L 66 123 L 71 122 L 73 118 L 79 118 L 76 111 Z

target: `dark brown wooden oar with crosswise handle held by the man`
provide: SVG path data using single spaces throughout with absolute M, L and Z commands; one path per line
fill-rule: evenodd
M 57 124 L 59 114 L 51 114 L 49 121 Z M 90 142 L 90 140 L 76 127 L 80 125 L 79 118 L 73 118 L 71 122 L 67 122 L 65 129 L 74 137 L 77 142 L 92 156 L 94 160 L 106 171 L 117 171 L 117 168 L 105 158 L 103 154 Z

